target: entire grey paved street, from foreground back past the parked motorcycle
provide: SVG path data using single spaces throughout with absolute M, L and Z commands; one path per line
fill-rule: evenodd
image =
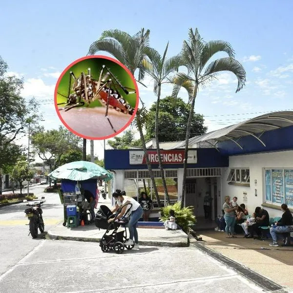
M 43 188 L 32 190 L 46 198 L 47 231 L 62 220 L 63 206 L 56 193 L 42 193 Z M 192 245 L 141 246 L 117 255 L 103 253 L 97 243 L 32 239 L 24 209 L 24 204 L 0 209 L 0 293 L 263 292 Z

